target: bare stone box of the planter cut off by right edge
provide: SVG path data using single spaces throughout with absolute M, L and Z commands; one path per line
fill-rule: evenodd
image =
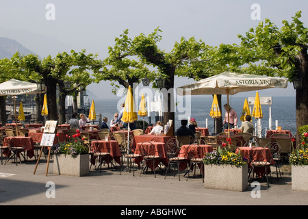
M 292 190 L 308 192 L 308 166 L 292 165 Z

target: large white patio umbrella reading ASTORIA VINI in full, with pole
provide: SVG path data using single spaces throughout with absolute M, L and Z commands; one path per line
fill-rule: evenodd
M 177 88 L 178 95 L 203 95 L 203 94 L 227 94 L 268 88 L 287 88 L 287 79 L 280 77 L 268 77 L 264 75 L 248 75 L 240 73 L 224 72 L 206 79 Z M 230 137 L 229 112 L 228 112 L 228 137 Z

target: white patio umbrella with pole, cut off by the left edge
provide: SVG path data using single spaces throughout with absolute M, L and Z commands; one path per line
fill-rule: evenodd
M 14 97 L 14 112 L 16 112 L 15 96 L 21 94 L 35 94 L 38 92 L 44 92 L 38 89 L 37 83 L 31 83 L 27 81 L 19 81 L 16 79 L 10 79 L 3 83 L 0 83 L 0 96 L 13 96 Z M 17 123 L 17 116 L 15 114 L 15 121 Z M 17 133 L 17 125 L 16 125 Z

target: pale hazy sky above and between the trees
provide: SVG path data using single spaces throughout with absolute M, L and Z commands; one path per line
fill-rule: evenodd
M 182 36 L 211 46 L 239 43 L 238 34 L 265 18 L 281 27 L 281 21 L 292 21 L 298 10 L 307 24 L 305 0 L 0 0 L 0 36 L 17 40 L 40 57 L 86 49 L 103 59 L 125 29 L 133 38 L 159 27 L 163 31 L 159 48 L 169 52 Z M 191 82 L 177 78 L 175 87 Z M 110 81 L 93 83 L 87 90 L 97 99 L 114 97 Z M 295 91 L 290 83 L 286 89 L 261 90 L 259 95 L 295 96 Z

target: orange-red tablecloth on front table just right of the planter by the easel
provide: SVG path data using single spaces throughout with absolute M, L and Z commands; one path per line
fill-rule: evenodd
M 93 147 L 94 146 L 99 147 L 100 152 L 107 152 L 103 151 L 103 146 L 107 147 L 110 149 L 110 157 L 105 158 L 105 162 L 109 164 L 113 159 L 118 163 L 121 164 L 120 158 L 121 158 L 121 152 L 120 152 L 120 146 L 118 145 L 118 141 L 116 140 L 110 140 L 110 141 L 105 141 L 105 140 L 97 140 L 97 141 L 92 141 L 91 143 L 91 151 L 94 151 Z M 95 159 L 97 159 L 97 156 L 94 156 L 91 154 L 91 159 L 90 162 L 91 164 L 95 164 Z

